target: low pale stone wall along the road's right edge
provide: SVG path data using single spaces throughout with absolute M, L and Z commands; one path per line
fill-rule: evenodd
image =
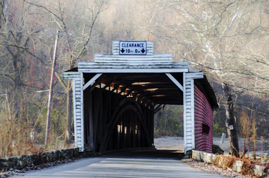
M 212 153 L 207 153 L 204 151 L 198 151 L 198 150 L 192 150 L 192 159 L 203 161 L 207 163 L 212 163 L 213 160 L 216 158 L 217 155 Z M 215 165 L 230 170 L 230 171 L 236 171 L 238 173 L 242 172 L 242 167 L 244 162 L 240 160 L 236 160 L 233 162 L 232 167 L 227 167 L 227 165 L 223 164 L 223 162 L 226 162 L 224 159 L 229 159 L 229 157 L 221 157 L 221 159 L 218 160 L 218 162 L 215 162 Z M 250 172 L 253 172 L 255 176 L 257 177 L 268 177 L 269 176 L 269 170 L 265 166 L 261 165 L 254 165 L 253 170 L 250 170 Z

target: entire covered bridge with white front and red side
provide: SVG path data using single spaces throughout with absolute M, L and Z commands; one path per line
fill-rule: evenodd
M 173 62 L 172 54 L 155 54 L 152 41 L 129 48 L 132 55 L 122 43 L 63 73 L 73 80 L 75 146 L 94 152 L 154 148 L 154 113 L 166 104 L 184 106 L 185 153 L 212 152 L 218 104 L 204 74 Z

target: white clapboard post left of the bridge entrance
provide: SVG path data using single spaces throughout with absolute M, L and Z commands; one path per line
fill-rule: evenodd
M 83 76 L 81 72 L 63 72 L 63 79 L 73 80 L 73 113 L 75 147 L 84 151 L 83 138 Z

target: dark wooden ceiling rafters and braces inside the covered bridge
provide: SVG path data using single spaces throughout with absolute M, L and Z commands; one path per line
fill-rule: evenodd
M 183 104 L 183 91 L 180 82 L 182 76 L 170 73 L 101 73 L 88 75 L 84 73 L 87 82 L 83 88 L 95 86 L 112 92 L 133 97 L 145 105 Z M 95 81 L 95 82 L 94 82 Z M 93 85 L 94 84 L 94 85 Z M 99 84 L 102 84 L 102 86 Z M 112 88 L 111 88 L 112 87 Z

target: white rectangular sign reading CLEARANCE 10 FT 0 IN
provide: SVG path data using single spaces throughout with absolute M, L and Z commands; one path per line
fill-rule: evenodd
M 120 55 L 147 55 L 146 41 L 120 41 Z

